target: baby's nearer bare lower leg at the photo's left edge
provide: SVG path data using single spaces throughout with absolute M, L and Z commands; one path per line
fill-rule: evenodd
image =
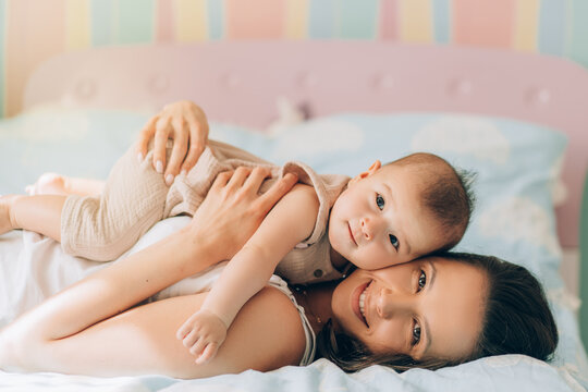
M 25 229 L 61 241 L 61 210 L 65 196 L 10 195 L 0 197 L 0 234 Z

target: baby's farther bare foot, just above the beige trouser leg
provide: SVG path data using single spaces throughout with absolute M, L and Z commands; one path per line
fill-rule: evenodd
M 57 173 L 42 174 L 33 185 L 26 187 L 29 195 L 98 195 L 105 182 L 91 179 L 70 177 Z

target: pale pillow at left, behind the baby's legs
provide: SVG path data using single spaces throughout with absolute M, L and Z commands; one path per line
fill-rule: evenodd
M 46 172 L 106 179 L 147 113 L 46 106 L 0 120 L 0 195 L 22 194 Z

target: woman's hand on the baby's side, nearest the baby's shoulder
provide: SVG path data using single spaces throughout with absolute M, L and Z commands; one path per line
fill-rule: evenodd
M 213 259 L 232 258 L 297 181 L 294 174 L 285 174 L 260 195 L 259 187 L 269 175 L 270 169 L 261 167 L 220 173 L 186 228 L 192 241 L 208 242 L 216 252 Z

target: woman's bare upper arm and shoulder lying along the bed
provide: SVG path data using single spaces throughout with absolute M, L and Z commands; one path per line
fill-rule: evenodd
M 12 369 L 198 378 L 299 363 L 305 336 L 297 310 L 285 295 L 266 287 L 245 304 L 217 356 L 196 365 L 174 332 L 204 299 L 204 294 L 180 296 L 132 308 L 66 339 L 32 345 L 21 367 Z

